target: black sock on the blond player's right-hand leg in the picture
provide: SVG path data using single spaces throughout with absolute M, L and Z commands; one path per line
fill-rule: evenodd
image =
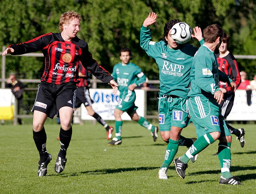
M 72 126 L 67 131 L 60 128 L 60 152 L 59 152 L 59 156 L 61 158 L 66 157 L 67 149 L 68 149 L 69 143 L 71 141 L 71 136 L 72 136 Z

